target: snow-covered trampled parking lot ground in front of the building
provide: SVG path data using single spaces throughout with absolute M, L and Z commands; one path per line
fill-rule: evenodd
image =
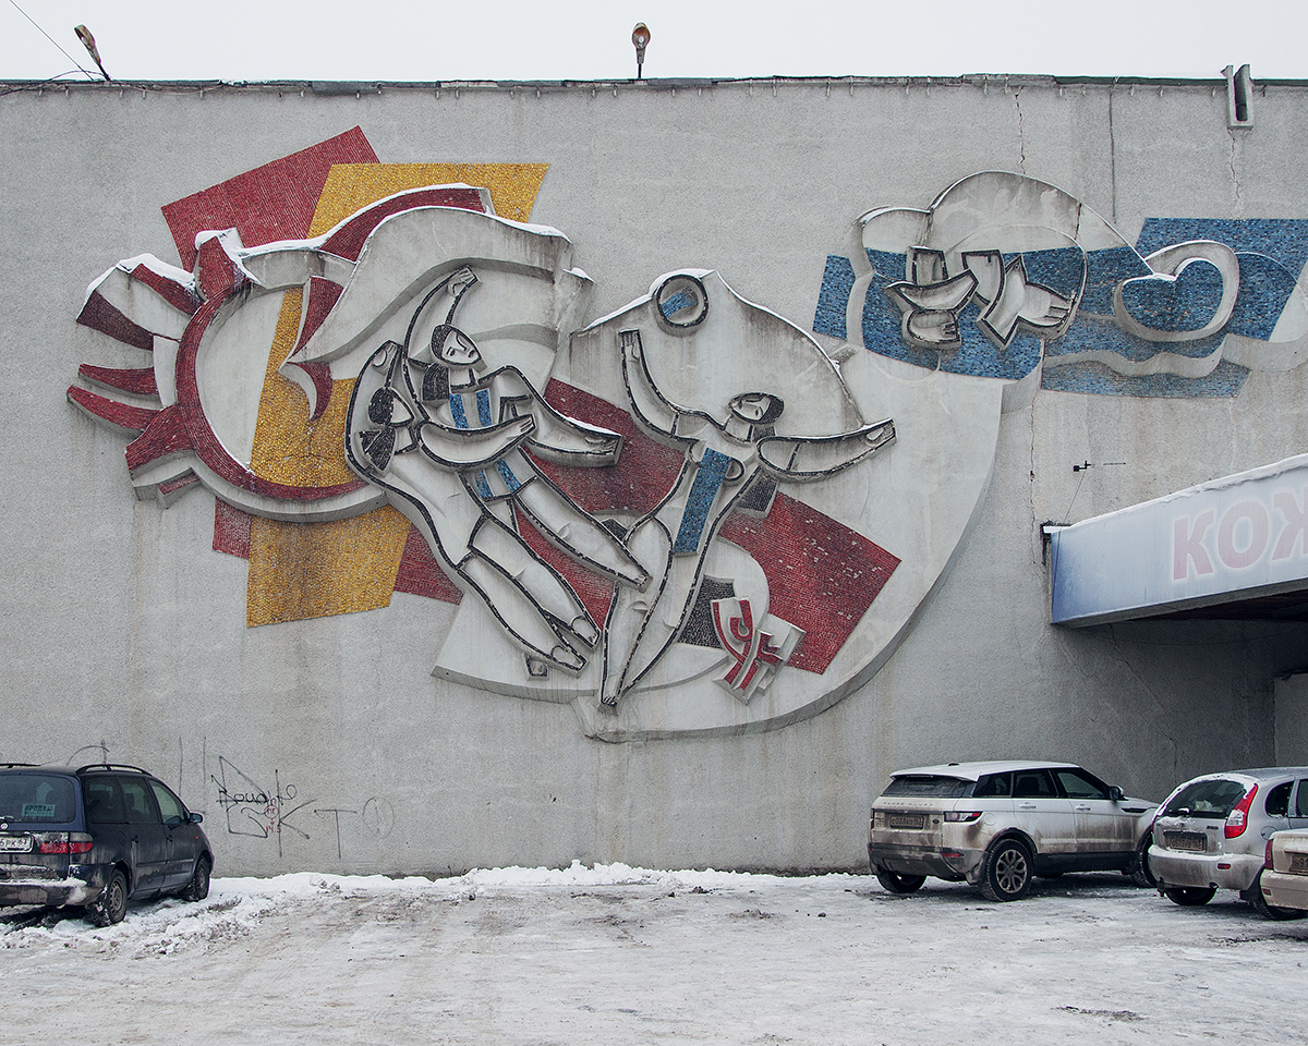
M 852 875 L 216 879 L 0 922 L 0 1043 L 1308 1042 L 1308 920 L 1121 876 L 1016 903 Z

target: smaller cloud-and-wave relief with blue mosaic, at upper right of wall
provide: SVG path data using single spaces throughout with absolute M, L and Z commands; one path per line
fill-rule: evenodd
M 1084 203 L 974 174 L 863 214 L 814 329 L 929 370 L 1045 390 L 1235 396 L 1308 358 L 1308 221 L 1150 218 L 1134 246 Z

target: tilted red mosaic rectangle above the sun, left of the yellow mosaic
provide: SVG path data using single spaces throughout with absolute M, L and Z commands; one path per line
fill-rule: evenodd
M 362 129 L 354 127 L 166 204 L 164 220 L 182 267 L 195 268 L 195 237 L 207 229 L 235 229 L 247 247 L 306 238 L 332 165 L 377 162 Z

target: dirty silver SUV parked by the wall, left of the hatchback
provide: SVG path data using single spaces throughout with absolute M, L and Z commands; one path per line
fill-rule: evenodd
M 951 762 L 899 770 L 872 803 L 867 860 L 891 893 L 929 875 L 991 901 L 1027 896 L 1036 875 L 1117 871 L 1152 885 L 1155 803 L 1127 799 L 1070 762 Z

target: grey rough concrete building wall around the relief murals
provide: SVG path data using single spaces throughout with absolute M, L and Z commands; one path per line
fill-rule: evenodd
M 974 171 L 1053 183 L 1127 242 L 1148 217 L 1308 217 L 1308 89 L 1267 86 L 1232 132 L 1222 84 L 301 86 L 0 97 L 0 758 L 148 766 L 204 811 L 218 873 L 273 873 L 855 867 L 900 766 L 1070 760 L 1162 798 L 1278 757 L 1273 680 L 1308 668 L 1308 626 L 1054 629 L 1040 524 L 1303 452 L 1308 367 L 1233 397 L 1036 392 L 998 418 L 971 535 L 870 683 L 777 730 L 621 744 L 568 705 L 434 679 L 446 603 L 247 628 L 213 496 L 136 501 L 127 437 L 64 390 L 82 362 L 143 365 L 75 319 L 118 259 L 177 262 L 161 205 L 354 126 L 383 162 L 548 163 L 531 218 L 595 280 L 586 320 L 704 267 L 810 327 L 859 214 Z

